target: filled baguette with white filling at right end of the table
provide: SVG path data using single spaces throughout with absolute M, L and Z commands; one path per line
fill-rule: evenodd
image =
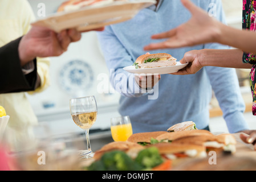
M 205 146 L 207 151 L 224 151 L 233 154 L 236 151 L 235 144 L 237 144 L 237 141 L 231 134 L 220 134 L 188 136 L 173 140 L 172 143 L 198 144 Z

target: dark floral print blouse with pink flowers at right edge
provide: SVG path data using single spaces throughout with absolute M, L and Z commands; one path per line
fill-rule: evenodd
M 256 31 L 256 0 L 243 0 L 243 29 Z M 253 115 L 256 115 L 256 55 L 243 53 L 243 63 L 253 64 L 250 72 L 250 86 L 253 95 Z

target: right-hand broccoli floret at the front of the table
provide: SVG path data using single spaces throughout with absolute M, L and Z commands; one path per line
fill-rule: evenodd
M 135 162 L 139 163 L 143 168 L 153 168 L 161 164 L 163 159 L 156 147 L 149 147 L 139 152 Z

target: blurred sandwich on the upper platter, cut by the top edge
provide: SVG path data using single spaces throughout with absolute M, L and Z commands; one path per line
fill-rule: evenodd
M 127 0 L 70 0 L 62 3 L 62 5 L 60 5 L 58 9 L 58 12 L 78 10 L 86 6 L 95 7 L 95 6 L 108 5 L 115 1 L 127 1 Z

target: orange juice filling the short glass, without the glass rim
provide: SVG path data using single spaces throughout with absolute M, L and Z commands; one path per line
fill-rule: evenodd
M 111 134 L 115 142 L 126 141 L 132 135 L 132 124 L 111 126 Z

